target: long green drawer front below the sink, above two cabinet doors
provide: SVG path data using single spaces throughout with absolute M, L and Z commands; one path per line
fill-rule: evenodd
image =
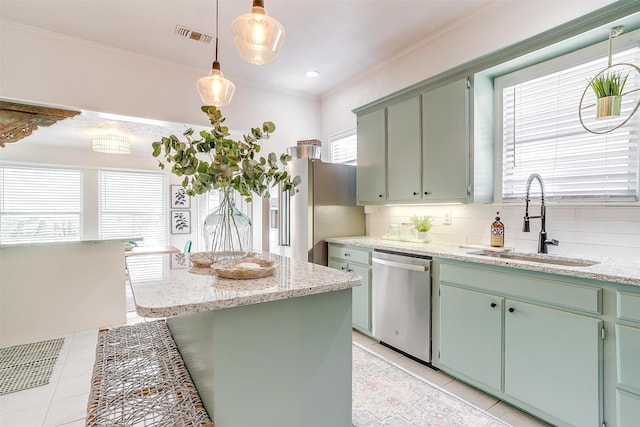
M 602 289 L 568 281 L 552 280 L 551 276 L 520 274 L 517 270 L 495 271 L 467 265 L 442 263 L 440 281 L 462 285 L 505 296 L 527 298 L 542 303 L 602 314 Z

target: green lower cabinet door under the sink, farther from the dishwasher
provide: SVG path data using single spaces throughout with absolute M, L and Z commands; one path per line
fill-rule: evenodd
M 563 423 L 602 425 L 602 321 L 505 302 L 504 392 Z

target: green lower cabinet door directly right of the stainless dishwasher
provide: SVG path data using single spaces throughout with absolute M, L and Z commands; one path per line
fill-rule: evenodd
M 440 285 L 440 364 L 502 386 L 503 299 Z

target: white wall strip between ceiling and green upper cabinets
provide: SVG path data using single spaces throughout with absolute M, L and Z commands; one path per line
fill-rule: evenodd
M 356 117 L 351 113 L 354 108 L 610 3 L 614 0 L 495 1 L 324 95 L 322 140 L 354 129 Z

